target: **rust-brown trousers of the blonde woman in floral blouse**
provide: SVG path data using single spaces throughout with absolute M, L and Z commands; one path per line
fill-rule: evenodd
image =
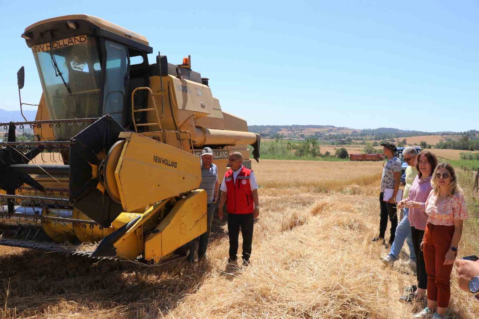
M 427 298 L 437 301 L 437 306 L 447 308 L 451 298 L 451 271 L 445 265 L 445 255 L 451 247 L 454 226 L 427 224 L 422 253 L 427 273 Z M 457 251 L 456 251 L 457 254 Z

